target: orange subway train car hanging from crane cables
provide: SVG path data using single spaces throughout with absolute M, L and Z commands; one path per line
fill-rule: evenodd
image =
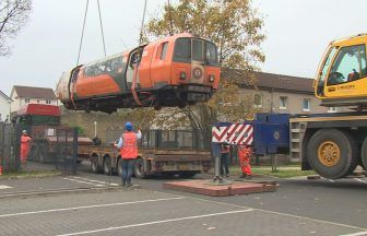
M 217 47 L 183 33 L 79 66 L 56 91 L 68 109 L 185 107 L 209 101 L 220 75 Z

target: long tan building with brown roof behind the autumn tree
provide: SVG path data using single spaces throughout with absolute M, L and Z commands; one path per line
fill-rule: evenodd
M 318 114 L 340 113 L 346 107 L 323 107 L 313 94 L 313 79 L 258 72 L 253 83 L 246 75 L 230 70 L 232 78 L 240 87 L 241 95 L 250 96 L 262 113 Z M 252 85 L 254 84 L 254 85 Z

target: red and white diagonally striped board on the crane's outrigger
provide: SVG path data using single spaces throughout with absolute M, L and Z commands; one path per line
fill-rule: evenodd
M 234 123 L 227 127 L 213 127 L 212 142 L 251 145 L 253 142 L 253 126 Z

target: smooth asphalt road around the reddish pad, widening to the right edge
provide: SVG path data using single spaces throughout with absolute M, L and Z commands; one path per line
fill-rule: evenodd
M 120 182 L 118 176 L 90 174 L 82 168 L 81 175 L 104 181 Z M 196 179 L 210 178 L 209 175 L 198 175 Z M 236 178 L 236 177 L 232 177 Z M 367 178 L 351 179 L 319 179 L 308 180 L 306 177 L 291 179 L 274 179 L 280 188 L 276 192 L 256 193 L 248 196 L 233 196 L 225 198 L 205 197 L 163 189 L 163 182 L 179 178 L 134 179 L 133 182 L 144 189 L 162 191 L 193 198 L 208 199 L 241 206 L 274 211 L 320 221 L 367 228 Z M 263 180 L 264 178 L 259 178 Z M 257 180 L 254 178 L 253 180 Z

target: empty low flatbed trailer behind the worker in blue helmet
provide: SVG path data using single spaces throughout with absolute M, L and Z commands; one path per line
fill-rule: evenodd
M 78 154 L 91 160 L 93 173 L 122 174 L 121 156 L 111 145 L 79 146 Z M 211 168 L 211 153 L 204 150 L 139 148 L 134 176 L 176 175 L 192 177 Z

